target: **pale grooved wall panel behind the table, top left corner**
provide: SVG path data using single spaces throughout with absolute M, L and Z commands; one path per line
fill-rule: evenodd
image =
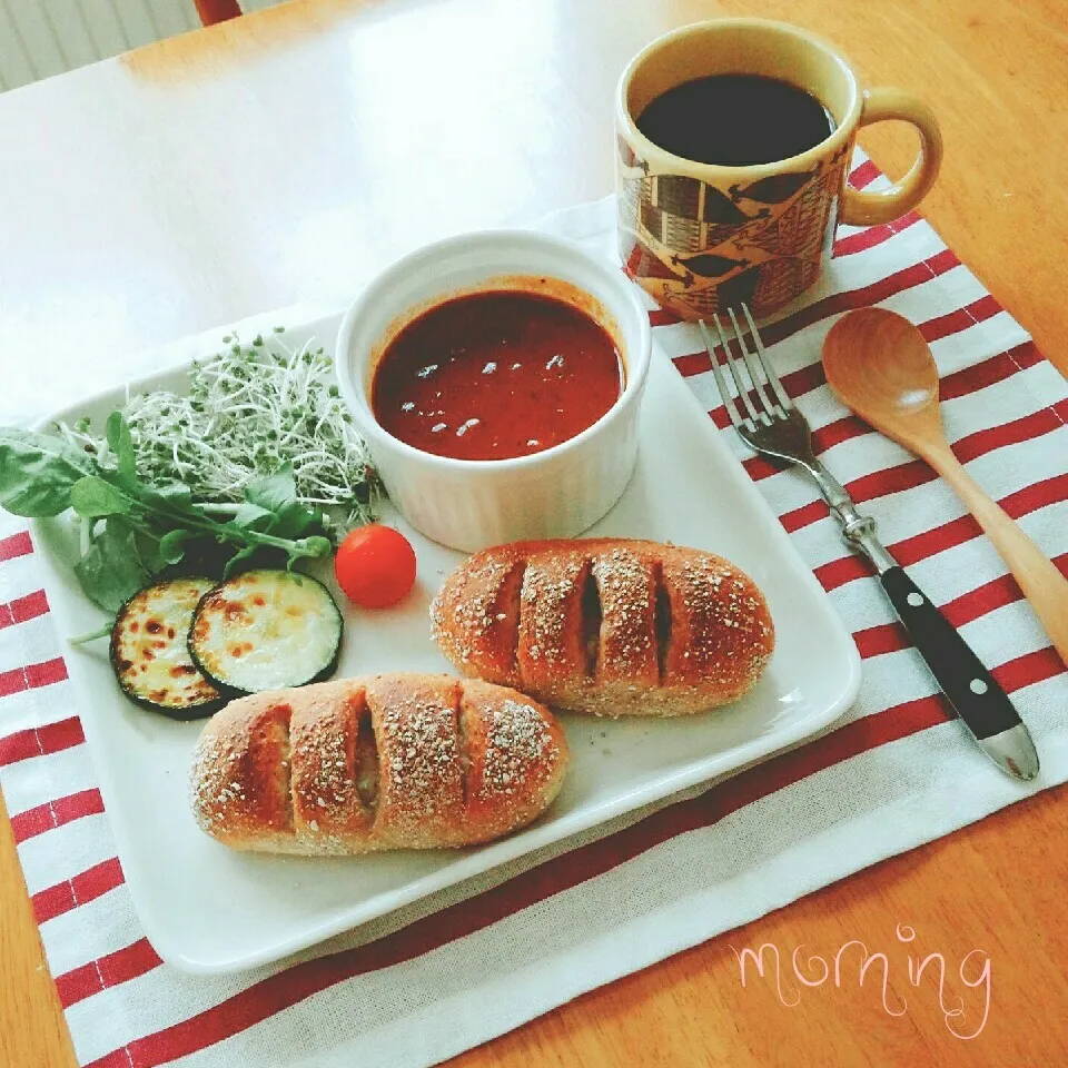
M 0 91 L 199 26 L 192 0 L 0 0 Z

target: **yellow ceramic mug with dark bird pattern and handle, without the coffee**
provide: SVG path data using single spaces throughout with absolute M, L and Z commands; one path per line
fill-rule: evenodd
M 759 75 L 803 89 L 834 129 L 799 156 L 726 167 L 674 156 L 636 119 L 661 93 L 710 75 Z M 847 188 L 857 131 L 883 119 L 911 122 L 920 152 L 901 181 Z M 615 101 L 620 253 L 626 273 L 686 319 L 748 301 L 755 315 L 789 303 L 819 277 L 839 221 L 889 222 L 930 189 L 942 157 L 931 110 L 902 89 L 862 89 L 850 65 L 805 30 L 762 19 L 683 27 L 643 49 Z

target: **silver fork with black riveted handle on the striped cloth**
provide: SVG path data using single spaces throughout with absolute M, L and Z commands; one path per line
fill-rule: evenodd
M 719 316 L 712 320 L 718 344 L 708 324 L 699 323 L 715 384 L 734 429 L 754 452 L 795 464 L 812 476 L 847 544 L 874 565 L 917 650 L 976 741 L 1002 771 L 1017 779 L 1034 779 L 1038 774 L 1038 753 L 1012 703 L 952 624 L 887 552 L 876 535 L 876 521 L 857 511 L 846 487 L 817 458 L 808 421 L 783 389 L 745 304 L 742 314 L 751 344 L 746 344 L 733 308 L 728 309 L 732 336 L 724 330 Z M 734 355 L 732 342 L 740 356 Z M 718 348 L 730 370 L 733 393 L 720 366 Z

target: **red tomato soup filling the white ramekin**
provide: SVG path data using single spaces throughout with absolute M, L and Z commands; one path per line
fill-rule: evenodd
M 372 409 L 394 437 L 454 459 L 505 459 L 552 448 L 619 399 L 615 342 L 563 300 L 520 290 L 456 297 L 388 344 Z

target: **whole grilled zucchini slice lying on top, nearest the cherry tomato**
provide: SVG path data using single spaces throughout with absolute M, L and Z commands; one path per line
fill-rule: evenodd
M 246 571 L 209 590 L 189 627 L 189 653 L 222 690 L 258 693 L 322 682 L 342 651 L 342 613 L 322 582 Z

